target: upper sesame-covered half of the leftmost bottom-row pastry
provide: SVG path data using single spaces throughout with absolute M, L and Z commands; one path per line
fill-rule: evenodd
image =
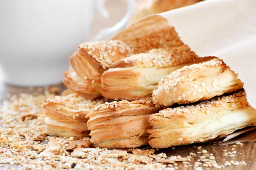
M 91 109 L 105 102 L 105 99 L 91 100 L 78 94 L 70 94 L 48 98 L 42 107 L 46 116 L 58 122 L 87 122 L 86 115 Z

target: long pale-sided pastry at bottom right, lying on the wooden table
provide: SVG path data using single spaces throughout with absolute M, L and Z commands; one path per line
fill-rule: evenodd
M 221 138 L 235 130 L 256 125 L 256 110 L 247 100 L 245 91 L 215 97 L 197 104 L 168 108 L 149 117 L 153 126 L 151 147 L 206 142 Z

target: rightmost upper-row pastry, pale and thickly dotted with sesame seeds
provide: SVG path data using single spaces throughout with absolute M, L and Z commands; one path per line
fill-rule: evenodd
M 221 59 L 214 58 L 200 64 L 185 66 L 159 82 L 153 91 L 156 103 L 172 106 L 211 99 L 238 91 L 243 83 Z

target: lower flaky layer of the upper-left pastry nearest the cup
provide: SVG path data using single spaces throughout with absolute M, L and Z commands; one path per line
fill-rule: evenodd
M 89 80 L 85 77 L 81 79 L 73 70 L 64 72 L 63 83 L 71 91 L 87 99 L 95 99 L 100 96 L 100 80 Z

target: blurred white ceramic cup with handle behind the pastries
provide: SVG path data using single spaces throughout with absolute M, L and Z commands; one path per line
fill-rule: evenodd
M 22 86 L 61 82 L 68 58 L 90 34 L 94 12 L 108 17 L 104 5 L 105 0 L 0 0 L 0 66 L 5 82 Z M 127 0 L 124 18 L 94 40 L 123 28 L 133 7 L 134 0 Z

